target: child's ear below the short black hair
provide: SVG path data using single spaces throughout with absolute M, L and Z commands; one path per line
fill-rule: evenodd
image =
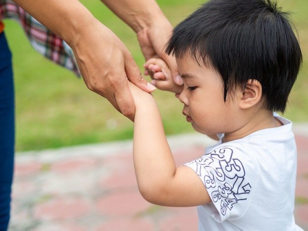
M 262 96 L 262 86 L 259 81 L 249 79 L 244 88 L 240 107 L 242 109 L 250 108 L 260 102 Z

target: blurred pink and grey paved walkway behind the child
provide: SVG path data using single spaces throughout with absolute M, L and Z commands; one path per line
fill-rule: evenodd
M 296 124 L 296 223 L 308 231 L 308 124 Z M 201 134 L 169 137 L 177 164 L 213 144 Z M 196 231 L 194 207 L 150 204 L 139 194 L 132 142 L 18 153 L 9 231 Z

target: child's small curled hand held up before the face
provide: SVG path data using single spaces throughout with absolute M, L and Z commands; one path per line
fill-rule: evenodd
M 183 86 L 178 86 L 173 82 L 171 71 L 161 58 L 150 58 L 143 65 L 145 67 L 144 74 L 150 75 L 152 78 L 151 84 L 160 90 L 168 90 L 180 94 Z

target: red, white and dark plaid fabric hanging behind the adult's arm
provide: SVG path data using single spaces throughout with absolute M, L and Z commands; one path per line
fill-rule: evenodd
M 0 18 L 17 20 L 36 51 L 81 76 L 70 47 L 12 0 L 0 0 Z

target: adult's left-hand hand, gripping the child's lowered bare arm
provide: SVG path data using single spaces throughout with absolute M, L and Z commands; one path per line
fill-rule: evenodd
M 147 92 L 155 88 L 143 78 L 132 55 L 110 29 L 94 17 L 84 24 L 69 45 L 87 87 L 133 120 L 135 109 L 127 79 Z

